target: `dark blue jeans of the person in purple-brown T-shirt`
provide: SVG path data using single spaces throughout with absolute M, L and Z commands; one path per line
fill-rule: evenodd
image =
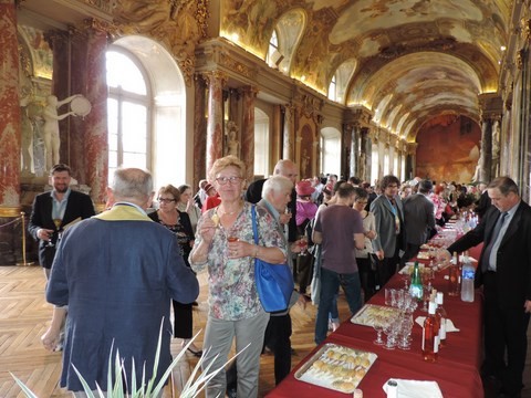
M 362 284 L 357 272 L 340 274 L 334 271 L 321 269 L 321 295 L 315 321 L 315 343 L 319 345 L 326 338 L 329 331 L 329 313 L 332 310 L 334 295 L 341 285 L 345 292 L 346 302 L 352 314 L 362 307 Z

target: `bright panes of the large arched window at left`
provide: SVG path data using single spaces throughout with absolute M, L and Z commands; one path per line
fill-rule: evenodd
M 143 70 L 127 51 L 107 51 L 106 67 L 111 181 L 118 166 L 150 168 L 150 95 Z

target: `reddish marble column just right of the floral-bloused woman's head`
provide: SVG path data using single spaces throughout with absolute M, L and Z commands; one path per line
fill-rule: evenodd
M 254 100 L 258 91 L 248 86 L 240 91 L 242 100 L 240 158 L 247 166 L 247 180 L 254 176 Z

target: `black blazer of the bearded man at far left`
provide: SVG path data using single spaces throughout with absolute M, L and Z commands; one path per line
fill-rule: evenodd
M 52 197 L 50 191 L 40 193 L 33 201 L 28 231 L 34 240 L 39 241 L 37 231 L 41 228 L 55 230 L 52 219 Z M 88 195 L 72 190 L 64 210 L 61 227 L 67 226 L 77 218 L 87 219 L 95 214 L 92 199 Z M 55 243 L 55 242 L 54 242 Z M 52 268 L 53 258 L 55 255 L 55 247 L 48 247 L 48 242 L 41 240 L 39 242 L 39 262 L 43 268 Z

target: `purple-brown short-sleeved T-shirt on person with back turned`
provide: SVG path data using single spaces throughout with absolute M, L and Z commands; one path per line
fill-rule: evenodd
M 363 220 L 357 210 L 331 205 L 315 219 L 315 231 L 323 234 L 322 266 L 337 273 L 357 272 L 354 233 L 363 233 Z

